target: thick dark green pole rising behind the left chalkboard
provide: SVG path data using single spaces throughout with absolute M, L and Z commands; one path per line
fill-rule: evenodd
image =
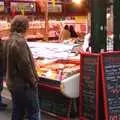
M 106 2 L 91 0 L 92 52 L 106 50 Z

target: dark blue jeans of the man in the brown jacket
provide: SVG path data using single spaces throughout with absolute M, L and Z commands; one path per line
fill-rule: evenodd
M 24 120 L 25 113 L 29 120 L 41 120 L 38 89 L 16 88 L 12 96 L 12 120 Z

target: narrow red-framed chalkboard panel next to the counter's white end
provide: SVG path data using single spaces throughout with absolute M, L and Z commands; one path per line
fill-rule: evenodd
M 81 54 L 80 120 L 98 120 L 99 55 Z

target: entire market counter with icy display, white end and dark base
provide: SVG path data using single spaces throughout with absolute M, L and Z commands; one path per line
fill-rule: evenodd
M 78 112 L 80 57 L 71 53 L 76 45 L 28 42 L 40 77 L 41 110 L 69 119 Z M 71 57 L 72 56 L 72 57 Z

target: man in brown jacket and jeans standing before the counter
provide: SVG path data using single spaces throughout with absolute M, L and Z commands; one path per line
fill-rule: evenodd
M 25 16 L 12 20 L 9 40 L 4 44 L 7 87 L 12 97 L 12 120 L 41 120 L 38 99 L 38 76 L 31 51 L 25 40 L 29 23 Z

